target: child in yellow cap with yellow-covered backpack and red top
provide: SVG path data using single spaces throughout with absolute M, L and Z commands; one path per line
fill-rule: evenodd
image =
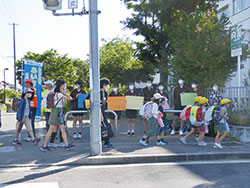
M 191 108 L 190 111 L 190 122 L 192 124 L 192 129 L 191 131 L 186 134 L 184 137 L 180 138 L 180 141 L 183 144 L 187 144 L 186 139 L 193 133 L 195 133 L 196 130 L 198 130 L 199 135 L 203 134 L 203 132 L 205 132 L 205 125 L 203 122 L 204 119 L 204 113 L 202 110 L 202 105 L 206 104 L 208 102 L 208 99 L 205 97 L 196 97 L 195 98 L 195 105 Z M 205 135 L 205 134 L 204 134 Z M 203 141 L 204 137 L 201 137 L 202 140 L 200 138 L 196 138 L 196 141 L 198 141 L 198 145 L 199 146 L 206 146 L 207 143 L 205 143 Z

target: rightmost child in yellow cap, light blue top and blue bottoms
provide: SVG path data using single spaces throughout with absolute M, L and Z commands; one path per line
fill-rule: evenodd
M 216 137 L 215 137 L 215 143 L 214 143 L 214 148 L 219 148 L 223 149 L 221 142 L 222 140 L 227 136 L 227 133 L 230 131 L 229 130 L 229 125 L 227 123 L 228 121 L 228 114 L 227 114 L 227 109 L 230 106 L 230 100 L 227 98 L 224 98 L 221 100 L 221 109 L 220 109 L 220 116 L 217 122 L 215 123 L 215 131 L 216 131 Z

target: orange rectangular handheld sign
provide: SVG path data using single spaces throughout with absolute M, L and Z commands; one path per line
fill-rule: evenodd
M 126 97 L 108 97 L 108 110 L 125 111 Z

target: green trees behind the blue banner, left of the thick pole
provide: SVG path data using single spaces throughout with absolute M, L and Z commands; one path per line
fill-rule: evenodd
M 74 82 L 80 78 L 87 86 L 88 80 L 88 63 L 80 59 L 72 59 L 67 55 L 60 55 L 56 50 L 51 49 L 43 54 L 28 52 L 23 59 L 43 63 L 43 81 L 57 80 L 62 78 L 67 85 L 72 87 Z M 21 82 L 22 61 L 17 61 L 17 76 Z

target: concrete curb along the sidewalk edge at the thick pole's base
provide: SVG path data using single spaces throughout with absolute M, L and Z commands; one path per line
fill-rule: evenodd
M 138 163 L 173 163 L 215 160 L 246 160 L 250 159 L 250 152 L 242 153 L 183 153 L 162 155 L 118 155 L 86 157 L 74 162 L 65 163 L 67 166 L 75 165 L 115 165 Z

